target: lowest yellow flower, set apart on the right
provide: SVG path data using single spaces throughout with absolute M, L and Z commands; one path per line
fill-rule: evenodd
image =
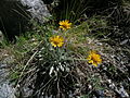
M 92 63 L 94 66 L 102 63 L 101 56 L 98 54 L 95 51 L 90 51 L 90 54 L 87 58 L 89 63 Z

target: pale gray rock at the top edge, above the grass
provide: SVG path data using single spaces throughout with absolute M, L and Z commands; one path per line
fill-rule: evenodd
M 30 12 L 32 19 L 37 19 L 40 23 L 46 22 L 51 14 L 47 5 L 41 0 L 21 0 L 23 5 L 29 7 L 27 10 Z

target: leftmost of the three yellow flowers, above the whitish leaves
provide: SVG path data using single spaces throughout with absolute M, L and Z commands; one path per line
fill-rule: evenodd
M 50 41 L 53 47 L 62 47 L 64 44 L 64 38 L 61 36 L 53 36 L 50 37 Z

